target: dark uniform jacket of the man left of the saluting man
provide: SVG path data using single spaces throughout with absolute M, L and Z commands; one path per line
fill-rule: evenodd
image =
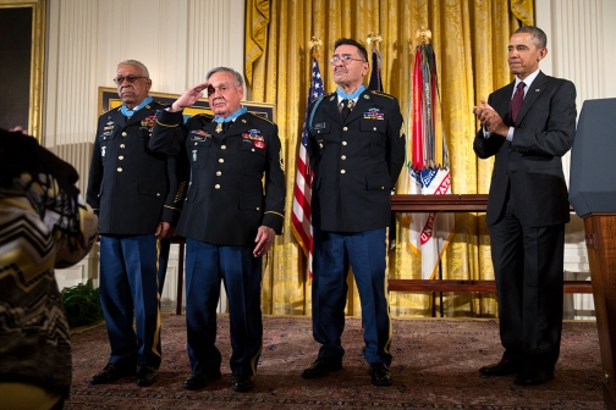
M 148 148 L 156 113 L 164 108 L 153 102 L 128 120 L 120 108 L 100 116 L 86 200 L 101 234 L 153 234 L 159 222 L 179 219 L 186 167 Z

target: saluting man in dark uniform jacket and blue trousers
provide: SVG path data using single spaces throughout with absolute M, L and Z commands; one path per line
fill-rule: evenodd
M 195 390 L 221 377 L 216 348 L 216 305 L 222 280 L 229 297 L 234 391 L 245 392 L 263 345 L 261 257 L 281 233 L 285 177 L 278 127 L 241 106 L 242 76 L 218 67 L 162 111 L 150 141 L 158 152 L 185 152 L 191 182 L 178 234 L 186 237 L 186 322 Z M 182 110 L 208 91 L 215 117 Z M 264 177 L 265 175 L 265 177 Z M 262 184 L 264 178 L 265 186 Z

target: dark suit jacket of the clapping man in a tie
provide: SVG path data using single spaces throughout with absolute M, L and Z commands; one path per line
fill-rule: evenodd
M 569 202 L 561 157 L 571 149 L 575 132 L 575 86 L 539 72 L 515 123 L 511 119 L 513 86 L 495 91 L 488 99 L 503 122 L 515 127 L 512 142 L 499 135 L 486 139 L 480 129 L 473 143 L 480 158 L 496 155 L 486 220 L 488 224 L 498 220 L 509 187 L 523 225 L 564 224 L 569 221 Z

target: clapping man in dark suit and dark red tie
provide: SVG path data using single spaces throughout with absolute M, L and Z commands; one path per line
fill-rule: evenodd
M 569 221 L 561 157 L 575 132 L 575 87 L 539 70 L 546 36 L 518 29 L 509 43 L 513 83 L 473 109 L 481 121 L 473 148 L 496 156 L 486 222 L 498 292 L 500 362 L 483 376 L 517 373 L 522 386 L 554 378 L 563 314 L 563 253 Z

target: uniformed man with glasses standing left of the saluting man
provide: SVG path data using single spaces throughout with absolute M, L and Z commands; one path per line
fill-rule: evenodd
M 137 385 L 148 386 L 161 362 L 159 289 L 187 173 L 148 148 L 164 108 L 148 96 L 148 69 L 121 62 L 114 82 L 122 106 L 99 118 L 86 197 L 99 217 L 99 294 L 111 344 L 107 365 L 90 383 L 136 373 Z

